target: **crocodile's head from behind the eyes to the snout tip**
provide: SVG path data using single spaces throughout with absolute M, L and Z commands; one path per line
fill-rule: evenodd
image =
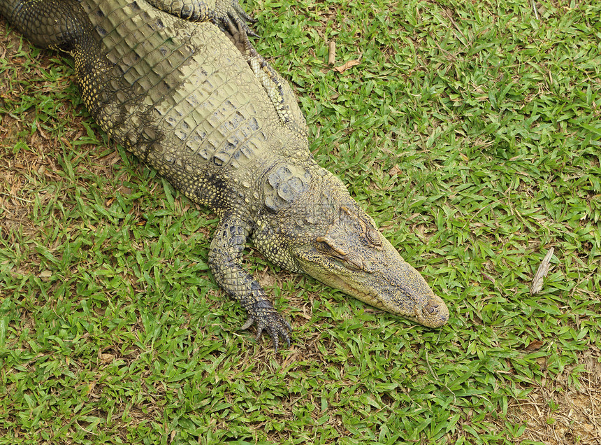
M 353 208 L 354 207 L 354 208 Z M 356 206 L 342 205 L 324 234 L 293 248 L 300 268 L 319 281 L 428 327 L 449 320 L 449 310 L 421 274 L 405 262 Z

